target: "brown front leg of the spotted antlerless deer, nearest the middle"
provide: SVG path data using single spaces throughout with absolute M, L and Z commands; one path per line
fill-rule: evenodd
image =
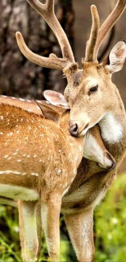
M 59 261 L 60 236 L 59 215 L 61 208 L 61 196 L 51 195 L 46 202 L 41 202 L 41 217 L 46 236 L 48 253 L 51 261 Z

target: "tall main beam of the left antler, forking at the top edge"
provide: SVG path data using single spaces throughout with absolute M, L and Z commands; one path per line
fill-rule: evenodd
M 67 58 L 70 62 L 75 62 L 68 38 L 54 14 L 54 0 L 47 0 L 45 4 L 42 4 L 39 0 L 27 0 L 27 2 L 45 19 L 53 30 L 61 47 L 63 58 Z

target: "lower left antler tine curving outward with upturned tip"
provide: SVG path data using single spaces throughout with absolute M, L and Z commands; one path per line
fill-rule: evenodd
M 33 53 L 25 44 L 23 36 L 20 32 L 16 32 L 16 38 L 20 51 L 31 62 L 42 67 L 48 67 L 48 68 L 59 69 L 59 70 L 63 70 L 64 67 L 68 65 L 68 61 L 66 59 L 58 58 L 54 54 L 50 54 L 49 57 L 41 57 Z

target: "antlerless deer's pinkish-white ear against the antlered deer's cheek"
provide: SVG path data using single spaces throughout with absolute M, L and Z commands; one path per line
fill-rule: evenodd
M 70 108 L 65 97 L 61 93 L 58 93 L 52 90 L 45 90 L 43 91 L 43 96 L 53 106 L 58 106 L 58 107 L 62 106 L 63 108 L 66 108 L 66 109 Z

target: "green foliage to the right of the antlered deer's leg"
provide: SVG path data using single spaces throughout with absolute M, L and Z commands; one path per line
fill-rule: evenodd
M 95 261 L 126 261 L 126 176 L 114 181 L 95 210 Z

